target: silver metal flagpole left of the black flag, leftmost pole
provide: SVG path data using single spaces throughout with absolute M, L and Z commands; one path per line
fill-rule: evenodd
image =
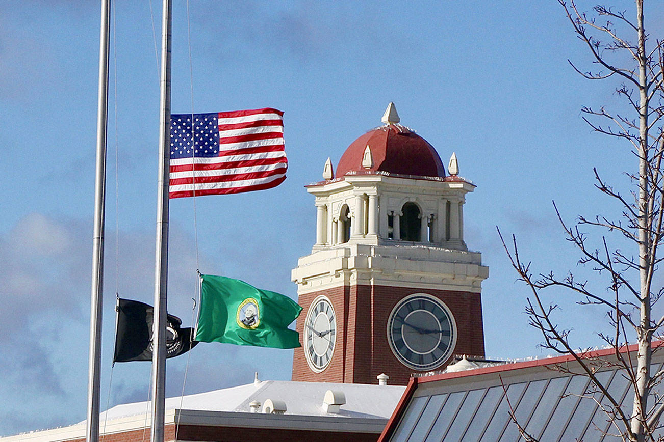
M 102 0 L 97 97 L 97 159 L 94 180 L 92 293 L 90 295 L 90 355 L 86 441 L 99 441 L 100 372 L 102 366 L 102 289 L 104 284 L 104 206 L 106 202 L 106 123 L 108 119 L 108 34 L 110 0 Z

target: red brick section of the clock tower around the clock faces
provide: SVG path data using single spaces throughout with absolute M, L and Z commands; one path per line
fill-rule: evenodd
M 458 333 L 454 354 L 484 356 L 480 294 L 353 285 L 313 292 L 299 298 L 299 304 L 304 308 L 297 319 L 299 333 L 303 333 L 307 309 L 314 298 L 324 294 L 331 300 L 337 313 L 337 343 L 330 364 L 320 373 L 314 373 L 307 365 L 303 347 L 295 349 L 292 379 L 376 384 L 376 376 L 385 373 L 390 376 L 388 384 L 406 385 L 413 370 L 401 364 L 392 354 L 387 343 L 387 318 L 404 296 L 420 292 L 436 296 L 452 310 Z

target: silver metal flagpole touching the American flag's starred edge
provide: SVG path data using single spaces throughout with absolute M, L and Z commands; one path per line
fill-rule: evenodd
M 166 294 L 168 285 L 169 158 L 171 139 L 171 0 L 163 0 L 161 19 L 159 191 L 155 252 L 155 314 L 152 327 L 151 441 L 164 440 L 166 388 Z

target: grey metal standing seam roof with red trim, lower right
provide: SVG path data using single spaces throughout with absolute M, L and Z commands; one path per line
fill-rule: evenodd
M 596 351 L 593 357 L 612 353 L 614 349 Z M 664 355 L 655 355 L 653 373 L 664 360 Z M 578 367 L 570 357 L 556 357 L 411 378 L 379 441 L 523 441 L 511 421 L 510 408 L 527 433 L 540 441 L 622 440 L 605 436 L 612 428 L 598 406 L 608 404 L 604 395 L 589 386 L 586 376 L 552 370 L 555 364 Z M 616 367 L 598 373 L 609 393 L 621 401 L 625 414 L 631 414 L 633 396 L 628 394 L 627 378 Z M 655 391 L 659 404 L 664 388 L 658 385 Z

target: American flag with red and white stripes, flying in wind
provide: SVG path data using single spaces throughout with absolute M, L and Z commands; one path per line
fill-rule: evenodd
M 284 113 L 171 114 L 171 198 L 274 188 L 286 180 Z M 193 127 L 193 129 L 192 129 Z

